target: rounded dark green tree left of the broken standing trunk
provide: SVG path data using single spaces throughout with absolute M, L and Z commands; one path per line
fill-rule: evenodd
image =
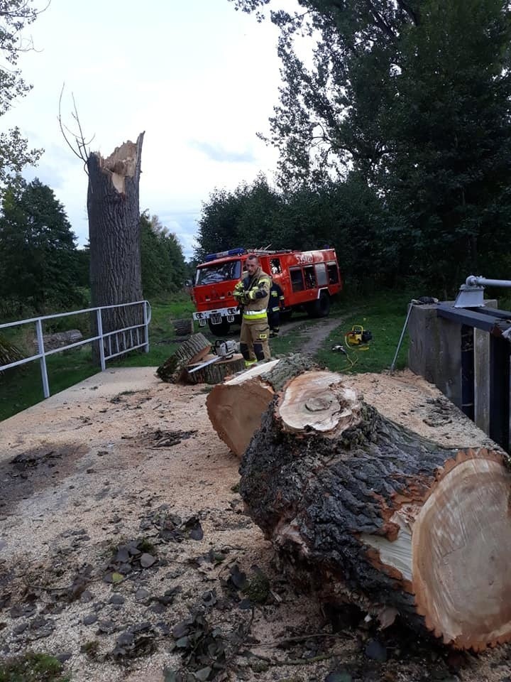
M 75 234 L 53 190 L 18 178 L 5 192 L 0 215 L 0 298 L 20 315 L 82 303 L 76 278 Z

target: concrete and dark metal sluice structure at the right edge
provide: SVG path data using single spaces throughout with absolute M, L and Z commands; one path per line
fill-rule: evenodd
M 484 300 L 486 286 L 511 281 L 471 275 L 454 304 L 414 306 L 409 366 L 511 453 L 511 312 Z

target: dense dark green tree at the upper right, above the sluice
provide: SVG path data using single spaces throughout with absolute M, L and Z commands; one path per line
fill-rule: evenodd
M 509 252 L 510 43 L 500 0 L 430 1 L 402 39 L 401 96 L 379 180 L 411 268 L 445 291 L 488 251 Z

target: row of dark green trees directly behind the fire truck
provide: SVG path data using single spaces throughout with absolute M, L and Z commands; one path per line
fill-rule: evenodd
M 211 194 L 199 222 L 197 251 L 202 256 L 254 244 L 300 250 L 328 245 L 336 248 L 352 287 L 392 284 L 397 249 L 385 239 L 390 224 L 377 193 L 358 173 L 344 182 L 328 181 L 315 188 L 303 183 L 285 193 L 271 190 L 258 178 L 231 193 Z

